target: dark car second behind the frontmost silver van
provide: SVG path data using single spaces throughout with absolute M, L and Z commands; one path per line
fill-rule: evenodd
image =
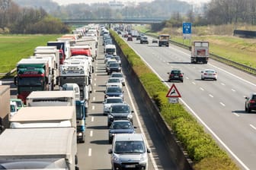
M 128 120 L 133 124 L 133 110 L 127 103 L 114 103 L 110 106 L 107 114 L 107 127 L 110 127 L 115 120 Z

